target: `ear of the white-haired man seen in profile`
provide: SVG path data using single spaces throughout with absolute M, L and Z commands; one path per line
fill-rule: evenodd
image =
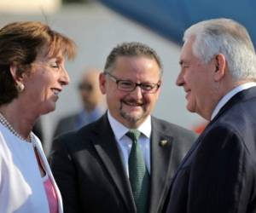
M 214 72 L 214 80 L 220 81 L 224 78 L 226 74 L 226 60 L 223 54 L 215 55 L 215 72 Z

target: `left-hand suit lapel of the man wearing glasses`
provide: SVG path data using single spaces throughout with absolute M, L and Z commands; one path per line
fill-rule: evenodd
M 124 200 L 129 212 L 135 212 L 131 187 L 125 168 L 119 155 L 119 149 L 114 139 L 113 130 L 108 123 L 107 114 L 96 123 L 96 138 L 92 140 L 96 152 L 102 158 L 102 162 L 112 177 L 114 184 L 119 189 L 121 198 Z

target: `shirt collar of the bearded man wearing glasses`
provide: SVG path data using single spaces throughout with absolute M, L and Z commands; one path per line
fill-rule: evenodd
M 108 120 L 109 124 L 113 130 L 113 134 L 115 135 L 117 141 L 119 141 L 126 133 L 129 131 L 125 125 L 119 123 L 108 111 Z M 139 130 L 143 135 L 150 138 L 151 135 L 151 116 L 148 116 L 146 120 L 141 124 L 137 130 Z

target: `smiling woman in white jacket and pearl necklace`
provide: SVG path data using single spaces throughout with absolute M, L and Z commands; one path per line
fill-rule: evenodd
M 65 59 L 71 39 L 40 22 L 0 29 L 0 212 L 61 213 L 61 193 L 32 132 L 40 115 L 55 110 L 69 82 Z

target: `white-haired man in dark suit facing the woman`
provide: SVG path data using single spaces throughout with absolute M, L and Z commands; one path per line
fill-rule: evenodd
M 172 180 L 168 213 L 256 212 L 256 60 L 244 26 L 205 20 L 184 33 L 177 85 L 209 121 Z

